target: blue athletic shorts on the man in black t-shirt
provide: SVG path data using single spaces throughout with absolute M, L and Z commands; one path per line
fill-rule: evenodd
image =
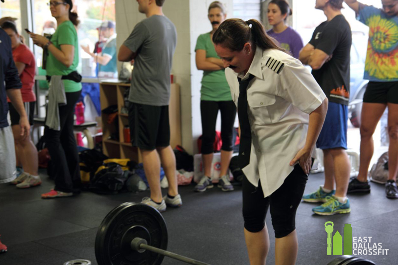
M 348 106 L 329 101 L 325 122 L 316 147 L 320 149 L 347 149 Z

